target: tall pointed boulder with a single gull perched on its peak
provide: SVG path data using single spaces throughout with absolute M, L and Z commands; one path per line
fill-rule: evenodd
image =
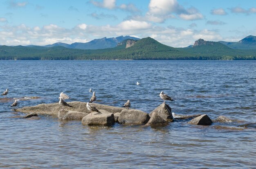
M 171 107 L 165 103 L 159 105 L 155 110 L 153 110 L 149 116 L 151 117 L 153 112 L 156 112 L 165 121 L 171 122 L 174 120 L 173 114 L 171 113 Z

